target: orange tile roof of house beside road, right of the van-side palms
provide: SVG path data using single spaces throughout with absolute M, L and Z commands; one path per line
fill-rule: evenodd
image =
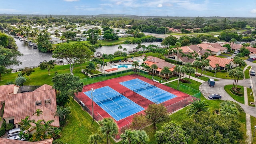
M 216 56 L 208 56 L 206 60 L 210 60 L 210 66 L 216 68 L 215 64 L 219 64 L 221 67 L 225 67 L 226 64 L 229 64 L 233 59 L 219 58 Z

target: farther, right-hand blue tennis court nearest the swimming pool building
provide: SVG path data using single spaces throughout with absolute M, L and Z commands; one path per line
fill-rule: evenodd
M 143 80 L 140 80 L 138 78 L 133 80 L 128 80 L 125 82 L 120 82 L 120 84 L 129 88 L 130 90 L 133 90 L 137 94 L 140 94 L 141 96 L 143 96 L 144 98 L 147 98 L 148 100 L 150 100 L 151 102 L 154 102 L 155 104 L 160 104 L 162 102 L 165 102 L 167 100 L 177 97 L 176 95 L 170 92 L 162 90 L 161 88 L 158 88 L 154 85 L 144 82 Z

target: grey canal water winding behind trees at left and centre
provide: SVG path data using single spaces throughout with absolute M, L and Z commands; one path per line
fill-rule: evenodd
M 12 36 L 12 35 L 10 35 Z M 32 46 L 28 46 L 27 42 L 21 42 L 18 38 L 15 38 L 12 36 L 18 46 L 18 51 L 23 54 L 23 56 L 19 56 L 18 60 L 22 62 L 19 66 L 11 66 L 10 68 L 16 69 L 16 68 L 25 68 L 25 67 L 32 67 L 32 66 L 38 66 L 40 62 L 43 61 L 49 61 L 54 60 L 52 58 L 52 53 L 44 53 L 39 52 L 37 48 L 34 48 Z M 161 42 L 144 42 L 142 43 L 145 46 L 148 46 L 150 44 L 154 45 L 160 45 Z M 132 51 L 133 48 L 138 46 L 138 44 L 120 44 L 123 48 L 126 48 L 127 51 Z M 100 48 L 96 48 L 96 52 L 101 52 L 102 54 L 114 54 L 118 50 L 119 45 L 115 46 L 102 46 Z M 123 51 L 123 50 L 121 50 Z M 96 53 L 95 52 L 95 53 Z

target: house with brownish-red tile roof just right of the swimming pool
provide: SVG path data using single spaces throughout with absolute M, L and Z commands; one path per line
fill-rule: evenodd
M 144 64 L 151 66 L 152 64 L 156 64 L 157 65 L 157 69 L 154 70 L 155 74 L 161 74 L 161 70 L 164 69 L 165 66 L 169 67 L 169 70 L 173 72 L 175 65 L 174 64 L 170 64 L 169 62 L 166 62 L 165 60 L 162 60 L 160 58 L 154 57 L 154 56 L 148 56 L 148 59 L 144 62 Z M 168 74 L 169 76 L 170 74 Z M 163 76 L 165 76 L 165 74 L 163 74 Z

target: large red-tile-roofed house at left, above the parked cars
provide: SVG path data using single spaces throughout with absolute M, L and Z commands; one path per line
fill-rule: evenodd
M 40 109 L 43 114 L 39 117 L 33 114 Z M 59 127 L 60 122 L 58 116 L 54 116 L 57 109 L 56 92 L 52 86 L 43 85 L 33 92 L 24 92 L 17 94 L 7 94 L 4 106 L 4 116 L 6 123 L 12 123 L 19 127 L 19 123 L 26 116 L 35 121 L 54 120 L 52 126 Z

